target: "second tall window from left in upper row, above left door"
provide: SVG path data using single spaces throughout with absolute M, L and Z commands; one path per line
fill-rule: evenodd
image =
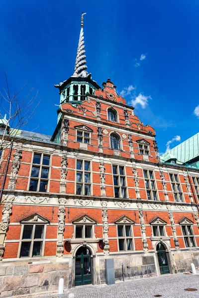
M 76 195 L 91 195 L 90 161 L 77 160 L 76 165 Z

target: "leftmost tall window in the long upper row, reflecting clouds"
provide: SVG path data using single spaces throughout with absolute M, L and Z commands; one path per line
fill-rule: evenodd
M 30 191 L 47 191 L 49 169 L 50 156 L 44 153 L 34 153 L 29 186 Z

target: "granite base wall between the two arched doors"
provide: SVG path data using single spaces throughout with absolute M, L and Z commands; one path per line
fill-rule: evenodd
M 111 256 L 114 259 L 115 281 L 122 281 L 122 263 L 125 280 L 157 276 L 152 254 Z M 100 259 L 100 283 L 105 283 L 105 260 Z

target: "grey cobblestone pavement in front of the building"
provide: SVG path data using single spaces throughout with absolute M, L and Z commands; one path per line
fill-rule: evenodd
M 195 288 L 196 292 L 184 289 Z M 42 298 L 199 298 L 199 275 L 165 275 L 147 279 L 131 280 L 115 285 L 79 286 L 63 295 Z M 161 297 L 158 296 L 158 297 Z

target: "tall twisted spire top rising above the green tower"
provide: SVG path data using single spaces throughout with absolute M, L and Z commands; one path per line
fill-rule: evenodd
M 85 45 L 84 45 L 84 31 L 83 31 L 83 26 L 84 26 L 84 14 L 82 13 L 81 16 L 81 30 L 80 30 L 80 38 L 79 38 L 79 43 L 78 43 L 78 50 L 77 50 L 77 56 L 76 56 L 76 61 L 75 61 L 75 69 L 74 69 L 74 74 L 72 76 L 76 77 L 87 77 L 89 76 L 87 70 L 86 63 L 86 51 L 85 51 Z

